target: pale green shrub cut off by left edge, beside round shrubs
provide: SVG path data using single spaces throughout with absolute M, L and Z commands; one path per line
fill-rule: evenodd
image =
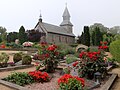
M 9 56 L 6 53 L 1 53 L 0 54 L 0 67 L 6 67 L 8 60 L 9 60 Z

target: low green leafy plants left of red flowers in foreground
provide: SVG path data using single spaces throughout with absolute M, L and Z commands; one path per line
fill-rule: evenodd
M 18 84 L 20 86 L 24 86 L 26 84 L 31 84 L 34 82 L 34 79 L 25 72 L 14 72 L 3 80 Z

